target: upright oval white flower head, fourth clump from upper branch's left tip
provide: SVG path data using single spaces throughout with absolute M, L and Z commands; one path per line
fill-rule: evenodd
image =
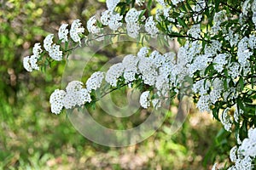
M 81 26 L 82 23 L 80 20 L 73 20 L 73 23 L 70 28 L 70 37 L 73 39 L 74 42 L 79 42 L 81 44 L 81 38 L 79 37 L 79 34 L 84 33 L 84 27 Z

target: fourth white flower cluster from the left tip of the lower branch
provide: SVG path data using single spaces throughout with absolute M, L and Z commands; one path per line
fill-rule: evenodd
M 116 87 L 119 77 L 123 75 L 124 70 L 125 66 L 122 63 L 112 65 L 106 73 L 106 82 L 108 82 L 111 86 Z

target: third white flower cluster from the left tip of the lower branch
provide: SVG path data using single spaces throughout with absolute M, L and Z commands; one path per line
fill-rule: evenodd
M 97 71 L 93 73 L 86 82 L 86 88 L 88 92 L 90 93 L 91 90 L 96 90 L 96 88 L 100 88 L 102 85 L 103 78 L 104 78 L 103 72 Z

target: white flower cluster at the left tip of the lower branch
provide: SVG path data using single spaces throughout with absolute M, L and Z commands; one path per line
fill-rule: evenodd
M 49 97 L 50 110 L 52 113 L 60 114 L 61 110 L 64 106 L 63 99 L 66 95 L 64 90 L 55 89 L 54 93 L 52 93 Z

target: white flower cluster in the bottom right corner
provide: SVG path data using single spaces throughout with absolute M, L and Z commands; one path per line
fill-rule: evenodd
M 248 138 L 239 147 L 230 150 L 230 160 L 235 163 L 229 170 L 253 169 L 253 159 L 256 157 L 256 128 L 248 130 Z

